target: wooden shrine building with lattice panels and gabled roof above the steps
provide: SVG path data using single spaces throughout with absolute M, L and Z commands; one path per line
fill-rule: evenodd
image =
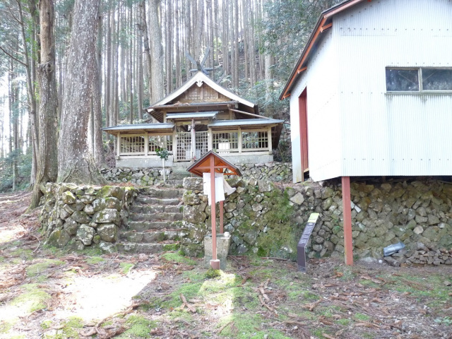
M 116 137 L 117 167 L 188 167 L 209 150 L 234 165 L 273 161 L 283 120 L 261 117 L 257 105 L 223 88 L 202 71 L 147 108 L 156 122 L 103 129 Z

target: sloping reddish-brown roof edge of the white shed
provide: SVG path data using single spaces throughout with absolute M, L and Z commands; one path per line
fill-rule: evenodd
M 290 93 L 293 85 L 297 82 L 300 74 L 307 69 L 307 61 L 311 56 L 311 53 L 315 52 L 318 47 L 321 39 L 322 33 L 333 27 L 333 16 L 336 14 L 346 11 L 357 4 L 360 4 L 366 0 L 345 0 L 340 4 L 337 4 L 331 8 L 328 8 L 326 11 L 321 13 L 319 20 L 314 27 L 314 30 L 311 32 L 311 36 L 303 49 L 302 55 L 299 57 L 297 64 L 295 64 L 295 69 L 293 69 L 292 74 L 289 77 L 289 80 L 285 84 L 283 92 L 280 95 L 280 100 L 284 100 L 286 97 L 290 97 Z M 371 0 L 367 0 L 371 2 Z

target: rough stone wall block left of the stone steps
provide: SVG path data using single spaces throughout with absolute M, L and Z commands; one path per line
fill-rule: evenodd
M 79 250 L 99 244 L 103 251 L 114 251 L 137 192 L 133 187 L 47 184 L 40 214 L 46 244 Z

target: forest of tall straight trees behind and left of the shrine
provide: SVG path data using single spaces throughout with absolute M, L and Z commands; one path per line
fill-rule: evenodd
M 338 2 L 0 0 L 0 192 L 55 181 L 56 162 L 79 144 L 97 167 L 111 165 L 100 128 L 150 121 L 143 108 L 196 69 L 187 54 L 206 58 L 210 77 L 262 115 L 285 119 L 278 157 L 290 160 L 288 102 L 278 97 L 319 14 Z

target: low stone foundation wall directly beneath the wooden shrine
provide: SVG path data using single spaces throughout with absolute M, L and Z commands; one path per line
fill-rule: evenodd
M 270 180 L 272 182 L 291 182 L 292 164 L 290 162 L 268 162 L 265 164 L 245 164 L 239 166 L 245 178 L 254 177 L 258 180 Z M 165 168 L 165 173 L 169 178 L 172 168 Z M 109 182 L 131 182 L 143 186 L 151 186 L 157 182 L 162 182 L 162 168 L 141 168 L 141 167 L 115 167 L 112 169 L 102 169 L 100 171 Z

